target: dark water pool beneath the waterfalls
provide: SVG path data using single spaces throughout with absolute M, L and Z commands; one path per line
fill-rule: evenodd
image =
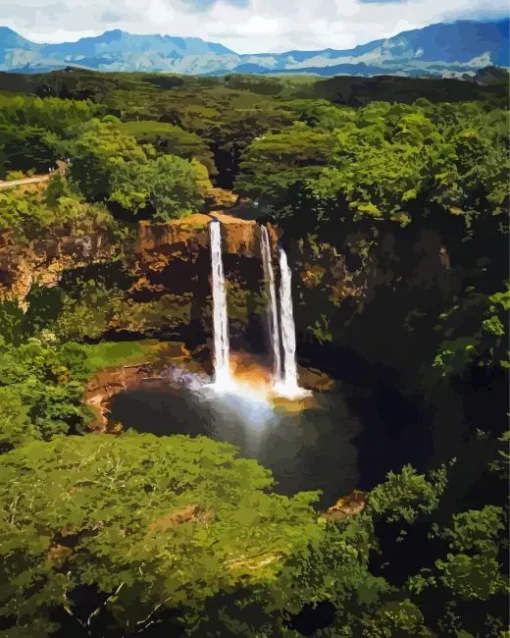
M 409 449 L 421 448 L 413 415 L 403 415 L 391 397 L 386 403 L 405 422 L 398 432 L 381 416 L 384 398 L 366 389 L 342 386 L 314 399 L 302 412 L 273 413 L 235 397 L 204 401 L 186 389 L 138 389 L 114 397 L 111 419 L 138 432 L 206 435 L 233 443 L 243 456 L 272 470 L 277 492 L 322 490 L 321 507 L 355 488 L 369 489 L 404 462 L 419 465 L 409 458 Z

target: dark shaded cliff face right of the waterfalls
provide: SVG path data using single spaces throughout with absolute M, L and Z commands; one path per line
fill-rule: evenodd
M 355 383 L 348 368 L 361 360 L 379 367 L 389 382 L 394 375 L 393 381 L 418 383 L 418 362 L 431 365 L 441 340 L 438 316 L 454 304 L 469 273 L 430 229 L 388 226 L 376 241 L 358 233 L 342 243 L 335 249 L 309 238 L 288 245 L 300 273 L 294 293 L 302 353 L 313 360 L 315 344 L 333 346 L 338 355 L 328 371 Z

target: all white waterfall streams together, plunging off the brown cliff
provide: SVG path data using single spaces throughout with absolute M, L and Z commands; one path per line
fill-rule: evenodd
M 269 332 L 273 355 L 273 389 L 276 394 L 296 398 L 308 394 L 299 387 L 296 366 L 296 330 L 292 307 L 292 271 L 287 255 L 278 247 L 280 264 L 280 313 L 272 263 L 271 242 L 265 226 L 260 226 L 260 245 L 264 279 L 268 292 Z M 209 224 L 212 261 L 214 385 L 220 390 L 233 386 L 230 371 L 227 295 L 221 252 L 221 224 Z M 281 338 L 280 338 L 281 329 Z M 283 358 L 282 358 L 283 352 Z

